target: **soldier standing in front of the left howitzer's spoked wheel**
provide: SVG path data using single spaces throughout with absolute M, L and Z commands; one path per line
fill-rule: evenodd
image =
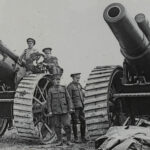
M 65 86 L 60 85 L 60 75 L 55 75 L 54 86 L 48 90 L 48 116 L 52 116 L 54 129 L 57 135 L 56 146 L 63 145 L 61 128 L 63 125 L 67 136 L 67 145 L 72 145 L 70 115 L 73 111 L 72 101 Z

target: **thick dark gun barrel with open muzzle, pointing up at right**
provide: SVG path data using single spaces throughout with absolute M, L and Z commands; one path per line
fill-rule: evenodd
M 126 62 L 138 74 L 144 73 L 149 76 L 150 46 L 148 40 L 149 33 L 147 33 L 149 28 L 144 28 L 142 25 L 144 28 L 142 29 L 140 25 L 138 26 L 134 18 L 128 15 L 125 7 L 120 3 L 113 3 L 106 7 L 103 17 L 117 38 L 121 47 L 121 53 L 125 57 Z

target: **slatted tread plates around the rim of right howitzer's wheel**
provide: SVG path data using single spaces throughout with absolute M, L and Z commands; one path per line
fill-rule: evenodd
M 109 128 L 107 93 L 115 67 L 94 68 L 86 83 L 85 117 L 88 133 L 93 140 L 105 134 Z

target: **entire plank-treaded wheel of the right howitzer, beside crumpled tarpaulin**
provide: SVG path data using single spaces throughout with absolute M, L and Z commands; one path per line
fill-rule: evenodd
M 119 66 L 96 67 L 89 75 L 84 110 L 87 130 L 93 140 L 105 134 L 110 126 L 122 124 L 118 119 L 120 109 L 112 102 L 112 95 L 119 91 L 121 77 Z

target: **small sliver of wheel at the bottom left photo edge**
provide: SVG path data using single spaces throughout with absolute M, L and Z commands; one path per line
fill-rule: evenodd
M 0 137 L 4 135 L 8 127 L 8 120 L 0 118 Z

